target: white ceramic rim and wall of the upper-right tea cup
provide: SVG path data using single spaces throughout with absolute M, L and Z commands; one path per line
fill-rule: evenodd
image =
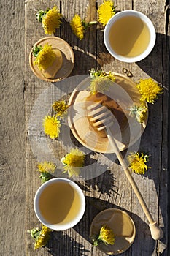
M 111 36 L 109 35 L 109 33 L 113 24 L 120 18 L 127 17 L 127 16 L 135 16 L 137 18 L 140 18 L 142 22 L 146 24 L 147 29 L 149 30 L 149 33 L 150 33 L 150 41 L 147 45 L 147 48 L 145 48 L 145 50 L 139 55 L 133 56 L 133 57 L 127 57 L 127 56 L 121 55 L 120 53 L 119 54 L 116 53 L 109 42 L 109 37 Z M 126 24 L 124 26 L 126 26 Z M 112 18 L 110 18 L 110 20 L 107 23 L 107 26 L 105 26 L 105 29 L 104 29 L 104 44 L 107 50 L 109 51 L 109 53 L 113 57 L 115 57 L 115 59 L 118 59 L 119 61 L 123 61 L 123 62 L 128 62 L 128 63 L 141 61 L 142 59 L 146 58 L 150 54 L 150 52 L 152 51 L 152 48 L 155 45 L 155 39 L 156 39 L 156 34 L 155 34 L 155 28 L 152 24 L 152 21 L 149 18 L 147 18 L 147 16 L 144 15 L 142 12 L 137 12 L 134 10 L 125 10 L 122 12 L 117 12 L 114 16 L 112 16 Z M 126 43 L 126 42 L 123 42 L 123 43 Z

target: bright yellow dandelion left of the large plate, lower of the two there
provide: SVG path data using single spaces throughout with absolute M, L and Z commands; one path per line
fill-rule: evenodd
M 45 134 L 49 135 L 50 138 L 58 138 L 60 133 L 61 123 L 57 116 L 45 116 L 43 121 L 43 127 L 45 129 Z

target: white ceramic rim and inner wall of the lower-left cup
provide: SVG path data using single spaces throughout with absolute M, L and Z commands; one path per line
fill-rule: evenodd
M 77 215 L 77 217 L 75 217 L 72 222 L 69 222 L 67 224 L 62 224 L 62 225 L 53 225 L 47 222 L 47 220 L 42 217 L 41 212 L 39 211 L 39 197 L 42 193 L 42 191 L 49 185 L 49 184 L 53 184 L 55 182 L 66 182 L 69 183 L 72 187 L 74 187 L 74 189 L 77 191 L 77 193 L 80 195 L 81 197 L 81 207 L 80 207 L 80 212 Z M 36 214 L 36 217 L 39 219 L 39 221 L 45 225 L 46 227 L 49 227 L 51 230 L 67 230 L 71 227 L 74 227 L 75 225 L 77 225 L 78 222 L 80 222 L 80 219 L 82 219 L 83 214 L 85 213 L 85 195 L 82 192 L 82 189 L 80 189 L 80 187 L 74 182 L 71 181 L 68 178 L 52 178 L 49 181 L 46 181 L 44 184 L 42 184 L 39 189 L 37 189 L 35 197 L 34 197 L 34 211 Z

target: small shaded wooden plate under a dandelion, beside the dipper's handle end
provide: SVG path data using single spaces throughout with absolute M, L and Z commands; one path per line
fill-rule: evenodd
M 101 211 L 96 215 L 90 225 L 90 236 L 98 236 L 102 225 L 110 227 L 115 235 L 115 244 L 98 244 L 98 249 L 107 253 L 107 255 L 123 253 L 134 242 L 136 235 L 135 225 L 131 217 L 125 211 L 116 208 Z

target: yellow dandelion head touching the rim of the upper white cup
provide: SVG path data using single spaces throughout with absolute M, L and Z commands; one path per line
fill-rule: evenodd
M 110 0 L 104 0 L 98 8 L 98 22 L 103 26 L 107 25 L 107 22 L 113 15 L 115 15 L 114 2 Z

